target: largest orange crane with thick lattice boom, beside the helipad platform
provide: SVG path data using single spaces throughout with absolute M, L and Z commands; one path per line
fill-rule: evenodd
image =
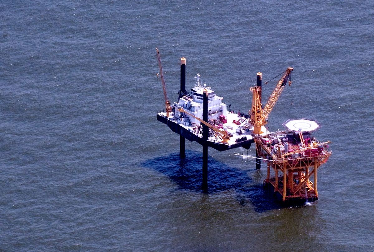
M 290 79 L 289 85 L 291 86 L 292 82 L 290 77 L 292 70 L 294 69 L 291 67 L 286 69 L 281 80 L 279 80 L 278 84 L 275 86 L 273 93 L 270 95 L 269 100 L 267 101 L 264 108 L 262 108 L 261 104 L 261 86 L 249 88 L 249 90 L 251 90 L 253 93 L 252 110 L 249 111 L 249 114 L 251 115 L 251 124 L 253 125 L 253 134 L 257 135 L 263 133 L 261 131 L 261 126 L 267 124 L 267 117 L 273 110 L 275 103 L 278 101 L 278 98 L 281 95 L 288 79 Z

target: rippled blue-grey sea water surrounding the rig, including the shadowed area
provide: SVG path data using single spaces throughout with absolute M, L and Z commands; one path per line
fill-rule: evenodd
M 374 251 L 373 1 L 2 1 L 0 251 Z M 265 169 L 156 120 L 180 57 L 232 109 L 294 68 L 269 116 L 315 119 L 319 200 L 282 207 Z M 275 80 L 276 81 L 276 80 Z M 275 81 L 264 85 L 267 97 Z M 246 152 L 246 151 L 245 151 Z M 254 155 L 254 149 L 248 151 Z

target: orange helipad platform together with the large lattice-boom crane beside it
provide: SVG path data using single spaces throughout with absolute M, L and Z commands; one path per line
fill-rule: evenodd
M 260 167 L 261 159 L 267 164 L 264 187 L 274 190 L 283 202 L 314 201 L 318 199 L 318 168 L 325 164 L 332 154 L 328 150 L 329 141 L 319 142 L 312 136 L 313 131 L 319 127 L 317 122 L 304 118 L 288 120 L 283 124 L 285 131 L 270 134 L 263 134 L 261 131 L 261 126 L 267 124 L 267 117 L 287 82 L 291 86 L 292 70 L 293 68 L 286 69 L 264 107 L 261 104 L 260 72 L 257 73 L 257 85 L 250 88 L 253 97 L 249 115 L 250 123 L 254 126 L 256 167 Z

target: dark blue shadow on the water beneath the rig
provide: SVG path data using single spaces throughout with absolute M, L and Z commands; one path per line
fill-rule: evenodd
M 238 161 L 240 162 L 240 161 Z M 172 153 L 143 162 L 144 167 L 155 169 L 170 177 L 178 185 L 178 190 L 201 192 L 202 153 L 186 150 L 186 158 L 180 159 L 179 153 Z M 251 174 L 254 174 L 252 177 Z M 258 174 L 257 174 L 258 173 Z M 256 181 L 254 181 L 256 180 Z M 272 194 L 263 189 L 260 171 L 242 170 L 230 167 L 214 158 L 208 160 L 208 194 L 234 189 L 238 203 L 251 203 L 255 211 L 264 212 L 284 207 L 276 202 Z

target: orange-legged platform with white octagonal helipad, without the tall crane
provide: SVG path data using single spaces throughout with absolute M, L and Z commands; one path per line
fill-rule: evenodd
M 267 164 L 264 186 L 274 190 L 282 201 L 318 199 L 317 170 L 325 164 L 332 152 L 329 141 L 319 142 L 312 136 L 315 121 L 307 119 L 289 120 L 304 128 L 277 131 L 266 136 L 255 137 L 258 156 Z M 314 183 L 310 180 L 313 177 Z

